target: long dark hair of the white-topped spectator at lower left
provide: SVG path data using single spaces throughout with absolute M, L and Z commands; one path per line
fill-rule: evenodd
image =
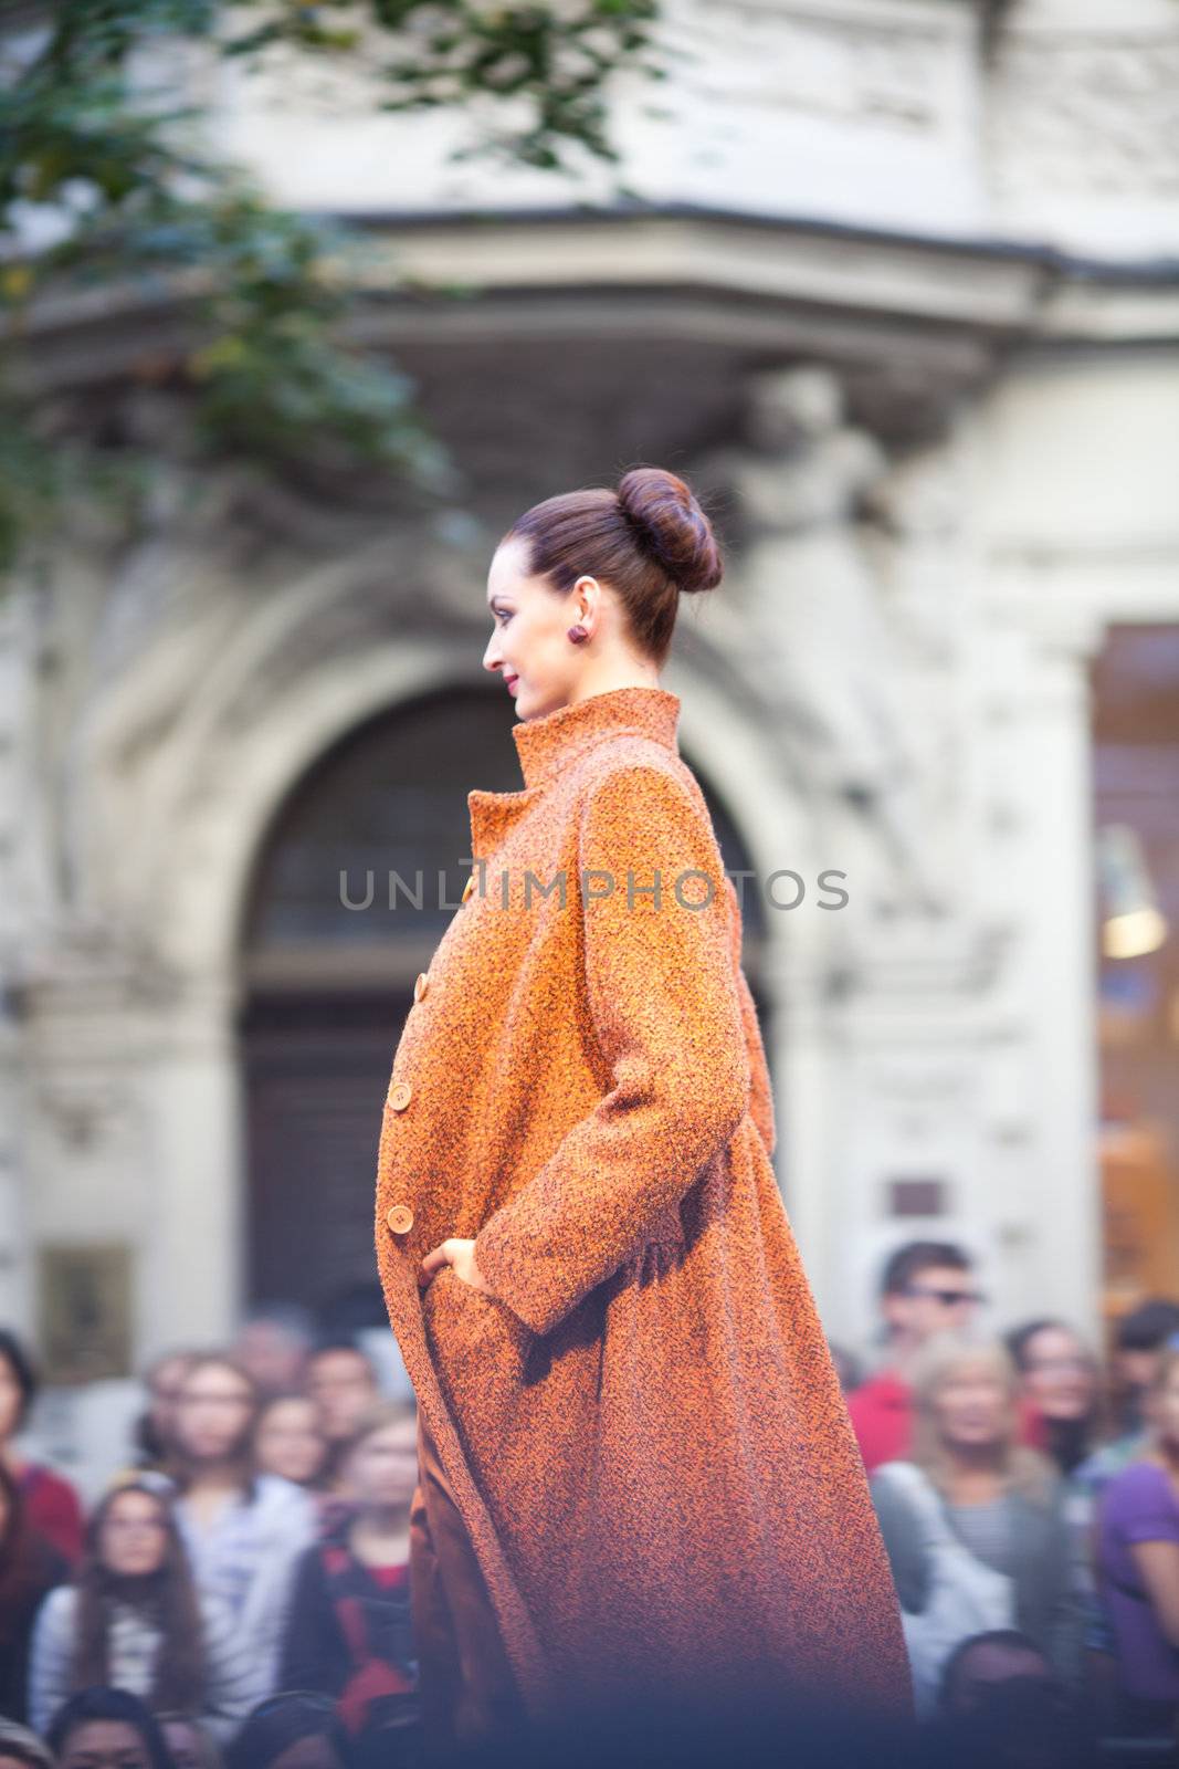
M 103 1528 L 124 1493 L 143 1493 L 150 1498 L 166 1534 L 157 1571 L 136 1580 L 120 1578 L 103 1560 Z M 124 1481 L 103 1495 L 87 1525 L 85 1557 L 76 1585 L 71 1689 L 110 1682 L 111 1601 L 118 1597 L 141 1608 L 159 1629 L 148 1707 L 198 1709 L 207 1684 L 202 1612 L 177 1518 L 164 1493 L 145 1481 Z

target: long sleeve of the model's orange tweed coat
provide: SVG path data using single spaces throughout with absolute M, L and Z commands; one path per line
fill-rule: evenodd
M 748 1109 L 726 883 L 707 812 L 672 775 L 620 768 L 590 793 L 583 989 L 610 1086 L 475 1237 L 481 1275 L 532 1332 L 624 1263 Z

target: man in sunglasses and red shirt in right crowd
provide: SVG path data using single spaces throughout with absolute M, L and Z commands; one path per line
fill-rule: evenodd
M 910 1240 L 889 1258 L 880 1279 L 880 1314 L 887 1350 L 884 1366 L 850 1398 L 847 1410 L 859 1438 L 864 1468 L 909 1454 L 912 1438 L 910 1366 L 926 1339 L 965 1332 L 983 1300 L 970 1283 L 972 1265 L 962 1247 L 942 1240 Z

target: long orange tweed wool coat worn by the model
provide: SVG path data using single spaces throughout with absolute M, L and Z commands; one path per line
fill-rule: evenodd
M 679 704 L 520 722 L 525 789 L 468 794 L 475 867 L 384 1109 L 389 1320 L 537 1718 L 753 1677 L 896 1716 L 900 1613 Z M 447 1237 L 491 1295 L 451 1267 L 421 1290 Z

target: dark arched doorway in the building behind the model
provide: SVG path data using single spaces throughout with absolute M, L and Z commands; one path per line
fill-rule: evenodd
M 470 869 L 467 793 L 521 784 L 511 725 L 506 699 L 486 688 L 403 702 L 332 745 L 270 823 L 240 934 L 251 1304 L 302 1302 L 327 1327 L 384 1321 L 373 1254 L 382 1102 L 414 978 Z M 725 865 L 748 867 L 696 773 Z M 749 890 L 755 996 L 762 932 Z

